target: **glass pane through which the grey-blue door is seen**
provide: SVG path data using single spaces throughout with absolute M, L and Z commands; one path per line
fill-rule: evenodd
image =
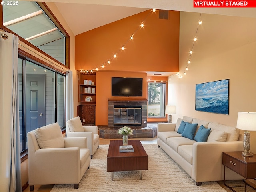
M 55 122 L 55 72 L 26 61 L 26 135 Z

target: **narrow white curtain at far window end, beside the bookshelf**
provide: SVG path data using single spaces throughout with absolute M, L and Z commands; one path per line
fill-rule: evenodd
M 66 75 L 66 120 L 74 117 L 74 103 L 73 103 L 73 72 L 67 71 Z

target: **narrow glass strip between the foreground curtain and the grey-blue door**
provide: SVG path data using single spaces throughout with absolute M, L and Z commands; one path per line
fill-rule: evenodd
M 22 79 L 22 61 L 18 59 L 18 84 L 19 84 L 19 118 L 20 118 L 20 152 L 25 150 L 25 138 L 23 129 L 23 79 Z

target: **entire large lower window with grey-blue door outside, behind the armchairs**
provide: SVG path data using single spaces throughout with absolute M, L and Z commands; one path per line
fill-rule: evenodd
M 54 122 L 65 126 L 65 76 L 29 59 L 18 59 L 21 152 L 27 133 Z

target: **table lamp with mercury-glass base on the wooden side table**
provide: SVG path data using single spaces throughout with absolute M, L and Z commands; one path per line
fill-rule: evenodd
M 251 157 L 250 150 L 250 132 L 256 131 L 256 112 L 238 112 L 236 127 L 244 132 L 244 152 L 242 156 Z

